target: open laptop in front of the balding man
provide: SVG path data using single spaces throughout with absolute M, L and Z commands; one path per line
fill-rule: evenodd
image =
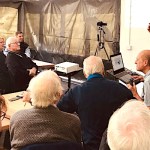
M 124 83 L 130 83 L 132 72 L 125 69 L 121 53 L 110 56 L 114 76 Z

